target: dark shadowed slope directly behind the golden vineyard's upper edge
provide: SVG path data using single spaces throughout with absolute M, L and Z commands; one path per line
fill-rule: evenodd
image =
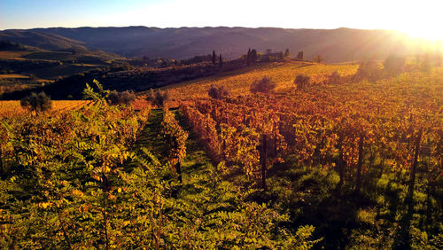
M 85 87 L 85 83 L 92 82 L 94 79 L 102 82 L 110 90 L 134 90 L 139 92 L 220 73 L 219 66 L 212 64 L 132 69 L 122 69 L 118 66 L 78 66 L 82 67 L 77 72 L 74 72 L 73 69 L 70 71 L 72 73 L 70 76 L 66 76 L 56 82 L 35 87 L 34 89 L 4 93 L 0 96 L 0 99 L 21 99 L 31 91 L 44 91 L 53 99 L 66 99 L 68 96 L 74 99 L 82 99 L 82 90 Z M 84 70 L 80 70 L 82 68 Z M 62 67 L 58 66 L 55 72 L 58 72 L 58 74 L 62 73 Z

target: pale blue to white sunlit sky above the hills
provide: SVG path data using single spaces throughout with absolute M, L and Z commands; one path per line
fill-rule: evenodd
M 0 30 L 32 27 L 392 29 L 443 40 L 442 0 L 0 0 Z

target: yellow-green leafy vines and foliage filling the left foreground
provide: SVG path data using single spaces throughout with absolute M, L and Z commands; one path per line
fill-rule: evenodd
M 107 105 L 105 92 L 85 90 L 93 101 L 81 109 L 2 120 L 0 246 L 294 248 L 319 241 L 312 226 L 284 226 L 287 215 L 239 192 L 180 112 Z

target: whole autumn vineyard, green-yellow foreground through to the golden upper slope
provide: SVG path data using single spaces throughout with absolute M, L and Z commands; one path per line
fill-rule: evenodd
M 98 82 L 49 114 L 1 102 L 0 246 L 441 249 L 443 67 L 358 67 L 263 64 L 161 107 Z

